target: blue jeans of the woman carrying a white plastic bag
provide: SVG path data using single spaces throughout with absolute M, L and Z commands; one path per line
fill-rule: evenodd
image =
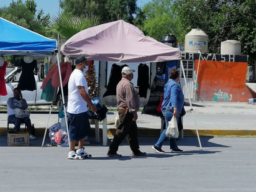
M 163 141 L 165 140 L 165 132 L 167 131 L 167 127 L 169 124 L 169 121 L 171 120 L 171 117 L 173 117 L 173 112 L 163 109 L 162 110 L 163 117 L 165 118 L 165 129 L 162 131 L 157 143 L 155 144 L 157 147 L 162 148 Z M 178 121 L 178 118 L 176 118 Z M 170 138 L 170 149 L 178 149 L 178 146 L 176 144 L 175 138 Z

